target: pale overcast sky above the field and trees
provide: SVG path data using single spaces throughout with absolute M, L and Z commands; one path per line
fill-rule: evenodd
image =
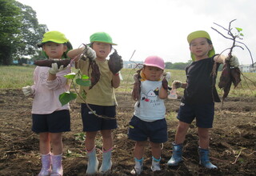
M 142 61 L 158 55 L 166 62 L 190 59 L 186 37 L 206 30 L 216 53 L 232 45 L 211 27 L 242 28 L 243 40 L 256 61 L 256 3 L 254 0 L 18 0 L 37 12 L 38 22 L 66 34 L 73 47 L 90 42 L 90 34 L 105 31 L 126 61 Z M 242 45 L 243 46 L 243 45 Z M 248 50 L 236 48 L 240 64 L 250 64 Z

